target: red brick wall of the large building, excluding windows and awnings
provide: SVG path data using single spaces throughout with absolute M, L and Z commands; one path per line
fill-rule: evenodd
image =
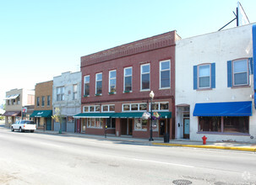
M 82 99 L 81 112 L 84 106 L 114 104 L 115 113 L 122 113 L 123 103 L 150 103 L 150 91 L 155 93 L 154 102 L 168 102 L 169 111 L 172 112 L 172 119 L 164 119 L 166 132 L 172 137 L 172 124 L 175 115 L 175 41 L 178 36 L 175 31 L 166 34 L 156 35 L 144 40 L 138 40 L 126 45 L 120 45 L 109 50 L 81 57 L 82 71 Z M 160 88 L 160 62 L 171 61 L 171 86 Z M 150 64 L 150 90 L 141 91 L 140 88 L 140 66 Z M 132 67 L 132 92 L 124 92 L 123 71 L 125 67 Z M 116 93 L 109 94 L 109 71 L 116 70 Z M 95 96 L 95 74 L 102 73 L 102 93 Z M 84 77 L 90 75 L 90 95 L 84 97 Z M 148 111 L 149 111 L 149 106 Z M 123 123 L 129 122 L 127 128 L 132 129 L 133 137 L 149 137 L 150 124 L 146 131 L 134 129 L 134 119 L 116 119 L 116 128 L 108 129 L 107 133 L 122 135 Z M 106 119 L 103 121 L 102 129 L 86 128 L 87 134 L 103 135 L 105 133 Z M 126 123 L 124 123 L 126 124 Z M 86 125 L 87 126 L 87 125 Z M 154 137 L 159 132 L 154 132 Z

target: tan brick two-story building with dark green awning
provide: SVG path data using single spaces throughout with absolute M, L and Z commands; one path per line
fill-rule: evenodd
M 35 84 L 34 118 L 37 129 L 52 130 L 52 84 L 53 81 Z

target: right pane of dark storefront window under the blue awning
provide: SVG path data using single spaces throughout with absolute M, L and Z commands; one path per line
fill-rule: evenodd
M 249 133 L 248 117 L 224 117 L 224 132 Z

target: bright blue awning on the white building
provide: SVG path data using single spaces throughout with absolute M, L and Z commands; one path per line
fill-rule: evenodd
M 193 116 L 251 116 L 252 102 L 196 103 Z

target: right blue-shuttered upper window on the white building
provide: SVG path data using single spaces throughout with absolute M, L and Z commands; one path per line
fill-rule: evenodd
M 248 86 L 249 75 L 253 73 L 252 66 L 252 58 L 227 61 L 227 87 Z

